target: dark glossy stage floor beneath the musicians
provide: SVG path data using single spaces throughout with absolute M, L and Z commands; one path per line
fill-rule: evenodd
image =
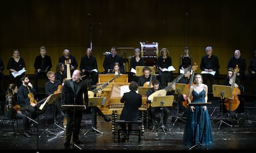
M 244 152 L 255 151 L 256 149 L 256 102 L 254 100 L 245 101 L 245 112 L 249 115 L 247 120 L 226 119 L 226 114 L 223 115 L 224 121 L 233 125 L 230 127 L 223 123 L 221 126 L 218 123 L 218 118 L 221 114 L 218 99 L 213 98 L 213 104 L 208 107 L 211 115 L 211 123 L 213 127 L 212 146 L 194 147 L 190 151 L 225 151 L 225 152 Z M 138 142 L 138 136 L 132 135 L 132 138 L 125 142 L 117 141 L 117 134 L 112 133 L 112 123 L 105 122 L 103 118 L 98 117 L 97 129 L 103 132 L 95 133 L 90 130 L 90 114 L 84 114 L 81 124 L 80 141 L 82 145 L 74 146 L 72 150 L 64 150 L 65 131 L 59 128 L 63 126 L 62 117 L 58 116 L 58 126 L 53 125 L 53 108 L 48 107 L 48 114 L 41 115 L 39 125 L 33 127 L 32 130 L 36 134 L 32 138 L 27 138 L 23 135 L 22 122 L 19 120 L 20 134 L 14 134 L 12 123 L 6 117 L 1 117 L 0 122 L 0 151 L 27 151 L 27 152 L 83 152 L 83 151 L 189 151 L 189 147 L 182 145 L 182 136 L 184 131 L 184 122 L 177 120 L 173 125 L 177 110 L 175 105 L 172 109 L 172 115 L 168 120 L 168 128 L 166 134 L 163 130 L 151 131 L 150 125 L 145 125 L 145 132 L 142 139 Z M 108 115 L 111 117 L 111 115 Z M 186 119 L 186 118 L 185 118 Z M 219 128 L 220 126 L 220 128 Z M 15 125 L 15 130 L 16 125 Z M 121 137 L 122 138 L 122 137 Z M 82 150 L 80 150 L 82 149 Z

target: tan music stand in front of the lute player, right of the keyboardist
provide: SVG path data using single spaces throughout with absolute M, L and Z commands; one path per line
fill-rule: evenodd
M 164 115 L 163 107 L 173 106 L 173 99 L 174 99 L 173 95 L 171 95 L 171 96 L 155 96 L 155 97 L 153 97 L 153 101 L 151 102 L 151 107 L 161 107 L 161 126 L 156 128 L 156 130 L 161 128 L 164 131 L 164 134 L 166 134 L 166 131 L 168 129 L 163 124 L 163 115 Z

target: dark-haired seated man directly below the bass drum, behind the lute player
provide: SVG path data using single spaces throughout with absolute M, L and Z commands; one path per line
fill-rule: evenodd
M 153 78 L 156 79 L 155 75 L 151 76 L 151 74 L 150 74 L 150 72 L 151 72 L 150 67 L 145 66 L 145 67 L 143 67 L 142 71 L 143 71 L 144 75 L 140 76 L 139 79 L 138 79 L 138 85 L 139 86 L 145 86 L 146 82 L 150 83 L 150 81 L 153 80 Z

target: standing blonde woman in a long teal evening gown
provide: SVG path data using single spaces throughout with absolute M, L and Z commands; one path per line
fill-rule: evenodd
M 193 102 L 207 102 L 208 87 L 202 82 L 202 75 L 195 75 L 194 85 L 190 86 L 189 89 L 188 104 Z M 187 107 L 183 144 L 185 146 L 194 146 L 198 143 L 202 145 L 213 143 L 210 115 L 206 105 L 192 105 Z

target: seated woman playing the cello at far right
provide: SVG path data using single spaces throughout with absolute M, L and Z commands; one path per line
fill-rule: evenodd
M 225 78 L 224 80 L 224 85 L 226 86 L 231 86 L 234 84 L 234 88 L 238 88 L 241 93 L 244 91 L 244 86 L 241 85 L 241 82 L 239 80 L 239 78 L 236 78 L 235 82 L 233 83 L 234 80 L 234 69 L 233 68 L 228 68 L 228 75 L 227 78 Z M 233 95 L 234 96 L 234 95 Z M 239 96 L 239 95 L 236 95 Z M 236 99 L 236 98 L 234 98 Z M 237 109 L 234 111 L 238 114 L 243 113 L 244 112 L 244 99 L 242 99 L 241 97 L 238 97 L 237 101 L 240 101 Z M 228 112 L 228 109 L 226 109 L 226 107 L 224 107 L 223 105 L 223 112 Z

